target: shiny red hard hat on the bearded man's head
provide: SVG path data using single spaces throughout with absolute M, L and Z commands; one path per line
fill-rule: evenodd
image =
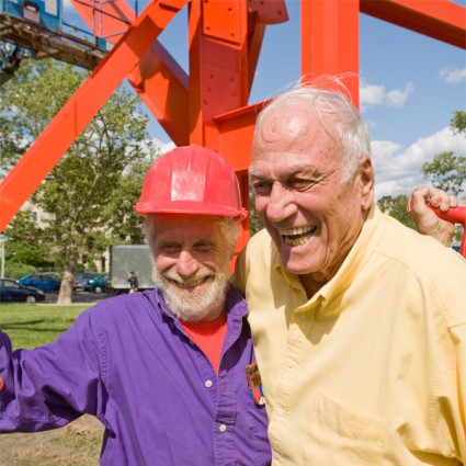
M 147 214 L 200 214 L 240 217 L 235 171 L 214 150 L 200 146 L 177 147 L 159 157 L 147 172 L 134 209 Z

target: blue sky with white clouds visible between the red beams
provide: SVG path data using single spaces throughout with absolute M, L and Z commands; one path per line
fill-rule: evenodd
M 139 11 L 146 3 L 138 2 Z M 266 29 L 249 103 L 299 79 L 299 1 L 286 0 L 286 7 L 289 21 Z M 65 9 L 68 22 L 75 15 Z M 425 161 L 448 150 L 466 156 L 466 137 L 450 129 L 454 112 L 466 111 L 466 52 L 365 14 L 360 31 L 360 106 L 372 137 L 376 198 L 409 194 L 428 182 L 421 174 Z M 159 39 L 189 72 L 185 9 Z M 170 145 L 154 117 L 149 132 L 163 148 Z

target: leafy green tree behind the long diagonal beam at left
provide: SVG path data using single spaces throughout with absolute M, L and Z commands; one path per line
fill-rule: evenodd
M 88 76 L 53 59 L 24 60 L 15 78 L 2 87 L 0 126 L 4 166 L 13 164 Z M 55 216 L 44 238 L 64 268 L 58 303 L 70 303 L 72 280 L 81 258 L 92 260 L 109 245 L 114 219 L 107 205 L 134 163 L 154 159 L 148 118 L 138 98 L 121 87 L 60 159 L 32 196 Z M 10 132 L 10 133 L 7 133 Z M 2 159 L 3 161 L 3 159 Z

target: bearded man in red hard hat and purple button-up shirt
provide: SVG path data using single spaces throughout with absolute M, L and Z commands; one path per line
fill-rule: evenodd
M 156 288 L 103 300 L 33 351 L 0 332 L 0 432 L 88 413 L 105 427 L 102 465 L 270 464 L 247 305 L 228 286 L 247 215 L 235 172 L 209 149 L 177 148 L 135 209 Z

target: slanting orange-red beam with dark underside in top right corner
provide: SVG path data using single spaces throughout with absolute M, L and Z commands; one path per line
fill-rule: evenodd
M 448 0 L 361 0 L 361 12 L 466 48 L 466 8 Z

